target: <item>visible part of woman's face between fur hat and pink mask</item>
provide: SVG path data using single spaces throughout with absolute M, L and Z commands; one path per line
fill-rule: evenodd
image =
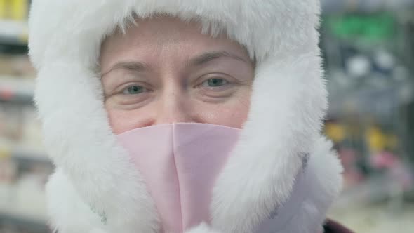
M 254 76 L 245 49 L 175 18 L 138 20 L 104 41 L 105 108 L 114 133 L 195 122 L 241 128 Z

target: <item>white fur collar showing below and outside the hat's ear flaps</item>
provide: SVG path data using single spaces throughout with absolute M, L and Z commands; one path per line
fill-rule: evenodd
M 305 170 L 302 171 L 300 178 L 302 180 L 295 181 L 296 186 L 305 187 L 299 189 L 298 186 L 294 187 L 290 197 L 297 198 L 290 198 L 277 210 L 274 219 L 268 220 L 265 225 L 253 232 L 270 233 L 265 229 L 272 229 L 271 232 L 275 233 L 321 232 L 319 228 L 322 228 L 324 215 L 331 204 L 326 200 L 333 200 L 342 187 L 342 176 L 338 173 L 342 171 L 342 167 L 335 153 L 330 151 L 331 147 L 331 142 L 326 138 L 319 139 L 314 152 L 309 156 Z M 102 223 L 102 218 L 98 218 L 79 198 L 62 171 L 59 169 L 56 171 L 46 189 L 49 201 L 48 213 L 53 222 L 53 229 L 59 228 L 60 232 L 109 232 Z M 289 210 L 290 208 L 295 209 Z M 199 232 L 224 233 L 206 224 L 201 224 L 185 233 Z

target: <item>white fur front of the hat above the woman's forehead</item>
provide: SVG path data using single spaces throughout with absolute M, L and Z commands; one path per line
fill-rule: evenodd
M 318 0 L 34 0 L 29 14 L 29 54 L 37 68 L 64 57 L 95 65 L 100 42 L 107 34 L 116 27 L 125 28 L 133 15 L 148 18 L 160 13 L 185 21 L 199 20 L 205 33 L 214 35 L 226 30 L 230 39 L 245 45 L 252 58 L 260 61 L 269 54 L 283 57 L 290 52 L 314 50 L 320 3 Z M 309 40 L 312 46 L 306 46 Z

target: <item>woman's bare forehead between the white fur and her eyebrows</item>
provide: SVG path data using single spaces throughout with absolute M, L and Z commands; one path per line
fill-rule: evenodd
M 248 56 L 246 50 L 235 41 L 226 38 L 225 33 L 218 36 L 201 33 L 198 22 L 182 22 L 178 18 L 154 17 L 138 19 L 125 32 L 115 32 L 103 41 L 101 62 L 119 56 L 150 56 L 156 52 L 173 52 L 182 55 L 203 53 L 203 51 L 227 50 Z

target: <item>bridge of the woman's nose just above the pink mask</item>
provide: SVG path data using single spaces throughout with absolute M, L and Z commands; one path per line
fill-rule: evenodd
M 174 83 L 174 84 L 173 84 Z M 191 116 L 187 109 L 189 101 L 186 98 L 185 90 L 176 82 L 170 82 L 164 86 L 159 98 L 159 109 L 157 124 L 171 124 L 177 122 L 189 122 Z

